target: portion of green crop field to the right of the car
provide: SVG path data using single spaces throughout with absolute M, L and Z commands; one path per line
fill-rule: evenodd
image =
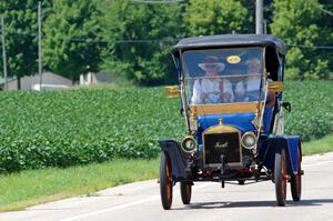
M 285 133 L 303 141 L 333 132 L 333 81 L 289 82 L 284 100 L 292 104 L 285 113 Z

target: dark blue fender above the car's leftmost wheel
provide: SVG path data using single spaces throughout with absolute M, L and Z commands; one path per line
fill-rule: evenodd
M 174 181 L 184 180 L 189 154 L 182 151 L 181 143 L 175 140 L 159 140 L 159 143 L 171 161 L 172 179 Z

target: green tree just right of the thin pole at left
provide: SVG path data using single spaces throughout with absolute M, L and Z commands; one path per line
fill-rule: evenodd
M 81 73 L 98 71 L 101 44 L 93 41 L 99 40 L 99 16 L 94 1 L 53 0 L 52 12 L 43 24 L 49 69 L 73 81 Z

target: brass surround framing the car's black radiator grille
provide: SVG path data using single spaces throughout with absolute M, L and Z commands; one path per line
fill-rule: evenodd
M 205 129 L 202 132 L 202 159 L 203 159 L 203 168 L 219 168 L 221 167 L 221 164 L 219 163 L 210 163 L 210 164 L 205 164 L 205 139 L 204 135 L 205 134 L 215 134 L 215 133 L 239 133 L 239 143 L 240 143 L 240 162 L 232 162 L 232 163 L 226 163 L 226 165 L 231 167 L 231 168 L 239 168 L 243 165 L 243 155 L 242 155 L 242 145 L 241 145 L 241 131 L 238 130 L 234 127 L 231 125 L 226 125 L 226 124 L 218 124 L 218 125 L 212 125 L 208 129 Z

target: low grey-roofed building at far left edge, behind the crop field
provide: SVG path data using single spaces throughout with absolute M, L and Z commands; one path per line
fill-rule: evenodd
M 38 90 L 40 88 L 39 76 L 26 76 L 21 78 L 22 90 Z M 46 90 L 69 88 L 72 86 L 72 81 L 64 77 L 58 76 L 52 72 L 43 72 L 42 74 L 42 88 Z M 0 79 L 0 90 L 4 90 L 4 79 Z M 18 90 L 18 80 L 16 78 L 8 79 L 8 90 Z

